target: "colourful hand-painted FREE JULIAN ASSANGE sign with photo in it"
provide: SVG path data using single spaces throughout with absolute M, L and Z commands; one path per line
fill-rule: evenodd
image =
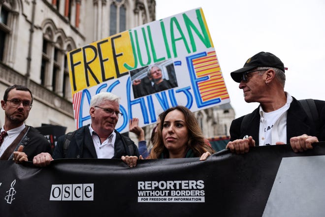
M 121 97 L 117 130 L 132 117 L 153 124 L 162 111 L 192 111 L 229 102 L 201 8 L 124 31 L 68 53 L 76 126 L 90 123 L 91 97 Z

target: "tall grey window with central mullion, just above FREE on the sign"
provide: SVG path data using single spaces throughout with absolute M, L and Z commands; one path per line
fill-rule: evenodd
M 112 0 L 110 5 L 109 34 L 113 35 L 127 29 L 127 9 L 124 0 Z

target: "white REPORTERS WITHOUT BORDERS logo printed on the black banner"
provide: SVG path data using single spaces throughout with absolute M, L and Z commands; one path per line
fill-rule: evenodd
M 138 182 L 138 202 L 204 203 L 204 181 Z

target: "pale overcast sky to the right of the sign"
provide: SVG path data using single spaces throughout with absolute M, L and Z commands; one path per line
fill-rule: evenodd
M 285 91 L 325 100 L 325 0 L 156 0 L 156 20 L 202 7 L 236 118 L 252 112 L 230 72 L 260 51 L 288 67 Z

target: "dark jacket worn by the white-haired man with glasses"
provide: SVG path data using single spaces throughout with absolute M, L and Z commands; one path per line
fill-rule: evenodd
M 134 142 L 115 130 L 116 140 L 114 144 L 113 158 L 121 158 L 123 155 L 139 156 L 139 151 Z M 67 134 L 60 136 L 54 149 L 53 158 L 97 158 L 93 139 L 90 135 L 89 125 L 80 127 L 72 133 L 72 137 L 66 155 L 64 157 L 64 143 Z M 131 153 L 133 152 L 133 154 Z

